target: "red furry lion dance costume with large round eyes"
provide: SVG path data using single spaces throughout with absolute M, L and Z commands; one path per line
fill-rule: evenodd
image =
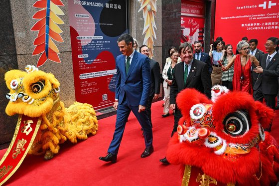
M 167 160 L 182 164 L 182 186 L 275 186 L 279 148 L 268 128 L 272 109 L 244 92 L 209 100 L 194 89 L 176 98 L 182 118 L 167 149 Z M 214 96 L 213 96 L 214 97 Z

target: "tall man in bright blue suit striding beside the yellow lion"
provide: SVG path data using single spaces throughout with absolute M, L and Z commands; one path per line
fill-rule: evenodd
M 152 128 L 145 110 L 151 87 L 149 58 L 133 48 L 134 39 L 130 34 L 118 38 L 118 46 L 122 55 L 116 57 L 116 93 L 114 108 L 117 110 L 115 132 L 105 162 L 116 163 L 117 154 L 123 137 L 128 117 L 132 112 L 143 129 L 145 150 L 141 158 L 153 152 Z

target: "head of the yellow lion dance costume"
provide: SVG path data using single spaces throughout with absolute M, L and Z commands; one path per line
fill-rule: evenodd
M 5 82 L 10 90 L 6 114 L 24 114 L 39 117 L 51 110 L 59 98 L 59 82 L 51 73 L 45 73 L 31 65 L 26 71 L 10 70 L 5 73 Z

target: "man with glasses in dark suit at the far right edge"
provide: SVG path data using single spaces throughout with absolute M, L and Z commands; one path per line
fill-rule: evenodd
M 279 87 L 279 54 L 276 51 L 277 45 L 277 37 L 268 38 L 265 44 L 268 53 L 262 55 L 260 66 L 254 69 L 254 72 L 259 73 L 253 88 L 254 99 L 263 101 L 265 98 L 267 106 L 273 109 L 275 108 L 275 98 Z

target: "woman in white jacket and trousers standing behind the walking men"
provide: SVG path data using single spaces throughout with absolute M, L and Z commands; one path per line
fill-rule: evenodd
M 179 63 L 181 61 L 181 59 L 180 59 L 180 61 L 178 61 L 179 58 L 180 57 L 179 57 L 178 51 L 173 50 L 170 53 L 171 61 L 166 62 L 163 72 L 162 72 L 162 76 L 164 79 L 163 87 L 164 87 L 164 95 L 165 95 L 165 104 L 164 104 L 164 111 L 163 111 L 164 113 L 163 113 L 162 117 L 169 116 L 170 85 L 171 85 L 172 79 L 173 79 L 173 76 L 172 76 L 172 74 L 174 73 L 173 68 L 177 63 Z

